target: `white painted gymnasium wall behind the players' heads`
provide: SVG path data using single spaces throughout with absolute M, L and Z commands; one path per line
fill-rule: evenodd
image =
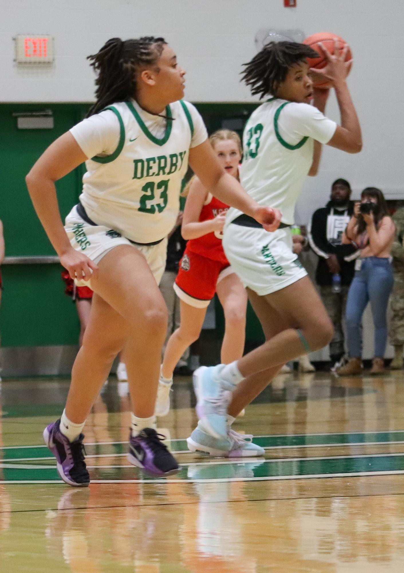
M 256 52 L 258 29 L 338 33 L 355 56 L 349 83 L 364 147 L 352 156 L 325 148 L 320 174 L 308 180 L 297 209 L 304 223 L 340 176 L 356 197 L 368 185 L 404 197 L 403 25 L 403 0 L 297 0 L 296 8 L 285 8 L 283 0 L 0 0 L 0 102 L 91 101 L 85 56 L 110 37 L 147 34 L 162 35 L 175 48 L 190 101 L 253 101 L 239 72 Z M 15 65 L 15 34 L 53 35 L 54 65 Z M 334 96 L 327 113 L 339 119 Z

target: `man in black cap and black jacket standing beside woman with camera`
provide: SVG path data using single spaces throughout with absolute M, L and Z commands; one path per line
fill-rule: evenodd
M 330 201 L 313 213 L 308 229 L 309 244 L 319 257 L 316 284 L 334 325 L 334 337 L 330 343 L 333 368 L 340 366 L 345 354 L 342 323 L 348 289 L 354 278 L 355 258 L 359 255 L 354 245 L 344 245 L 342 242 L 343 231 L 354 213 L 354 203 L 350 197 L 348 181 L 336 179 L 331 186 Z

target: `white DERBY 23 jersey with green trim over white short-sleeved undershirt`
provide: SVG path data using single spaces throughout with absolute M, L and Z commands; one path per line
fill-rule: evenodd
M 190 147 L 207 138 L 190 103 L 167 105 L 162 116 L 130 100 L 70 129 L 91 158 L 80 195 L 88 217 L 143 244 L 162 240 L 174 227 Z

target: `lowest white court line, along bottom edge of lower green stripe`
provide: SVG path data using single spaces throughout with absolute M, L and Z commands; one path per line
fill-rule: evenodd
M 404 474 L 404 470 L 389 470 L 388 472 L 352 472 L 352 473 L 314 473 L 307 476 L 266 476 L 266 477 L 217 477 L 207 480 L 170 480 L 168 478 L 156 480 L 91 480 L 92 484 L 212 484 L 233 481 L 279 481 L 279 480 L 311 480 L 313 478 L 327 477 L 363 477 L 363 476 L 396 476 Z M 58 484 L 66 485 L 62 480 L 5 480 L 0 484 Z

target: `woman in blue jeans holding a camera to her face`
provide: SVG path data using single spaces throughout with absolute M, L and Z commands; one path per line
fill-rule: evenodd
M 346 307 L 349 360 L 338 368 L 339 375 L 362 371 L 362 315 L 368 302 L 375 327 L 375 354 L 371 374 L 385 371 L 387 341 L 387 304 L 393 289 L 390 249 L 394 240 L 394 223 L 389 217 L 385 197 L 380 189 L 366 187 L 343 235 L 343 243 L 360 249 L 355 276 L 348 291 Z

